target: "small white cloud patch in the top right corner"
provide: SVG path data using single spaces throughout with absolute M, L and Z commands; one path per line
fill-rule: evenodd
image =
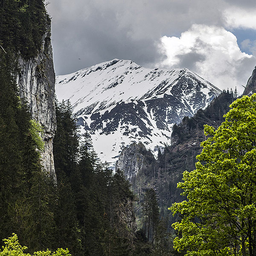
M 225 26 L 228 28 L 256 29 L 256 9 L 243 9 L 237 6 L 223 12 Z

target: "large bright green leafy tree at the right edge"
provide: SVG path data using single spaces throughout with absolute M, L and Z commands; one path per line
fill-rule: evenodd
M 196 169 L 178 183 L 188 200 L 170 208 L 183 216 L 175 248 L 189 256 L 256 254 L 256 94 L 230 107 L 217 130 L 205 125 Z

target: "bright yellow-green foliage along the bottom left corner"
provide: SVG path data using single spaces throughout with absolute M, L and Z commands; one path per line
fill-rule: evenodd
M 26 246 L 21 246 L 17 235 L 12 234 L 12 237 L 8 239 L 3 239 L 5 246 L 3 246 L 3 250 L 0 251 L 0 256 L 31 256 L 29 253 L 24 253 L 28 248 Z M 33 253 L 32 256 L 71 256 L 68 250 L 58 249 L 55 252 L 51 252 L 50 250 L 46 251 L 38 251 Z

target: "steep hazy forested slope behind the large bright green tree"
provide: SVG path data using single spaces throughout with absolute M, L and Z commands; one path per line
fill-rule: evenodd
M 182 181 L 184 171 L 195 169 L 196 156 L 202 150 L 200 143 L 207 138 L 204 135 L 204 125 L 217 128 L 224 121 L 223 115 L 230 110 L 229 106 L 237 96 L 236 91 L 223 91 L 205 110 L 199 110 L 193 117 L 184 117 L 180 124 L 173 127 L 172 145 L 159 149 L 157 160 L 150 151 L 140 147 L 138 154 L 143 156 L 143 164 L 131 179 L 132 190 L 139 198 L 135 202 L 138 227 L 144 229 L 145 212 L 141 206 L 145 192 L 154 188 L 166 232 L 174 232 L 171 225 L 179 216 L 173 217 L 168 207 L 184 200 L 180 195 L 182 190 L 177 189 L 177 183 Z

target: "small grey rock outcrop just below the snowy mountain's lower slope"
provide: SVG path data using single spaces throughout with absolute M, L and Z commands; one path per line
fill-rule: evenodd
M 116 170 L 121 170 L 129 182 L 131 182 L 131 180 L 136 177 L 137 172 L 145 166 L 145 151 L 146 148 L 143 143 L 132 143 L 128 147 L 123 148 L 116 161 Z

